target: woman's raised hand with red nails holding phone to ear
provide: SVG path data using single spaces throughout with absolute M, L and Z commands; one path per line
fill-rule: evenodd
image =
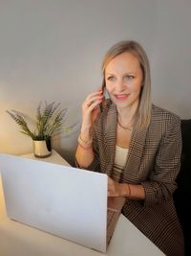
M 84 103 L 82 104 L 82 130 L 91 129 L 96 117 L 100 111 L 98 105 L 103 100 L 103 91 L 98 91 L 88 95 Z

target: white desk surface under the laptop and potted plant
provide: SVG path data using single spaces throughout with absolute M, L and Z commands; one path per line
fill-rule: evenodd
M 34 158 L 33 154 L 26 157 Z M 36 158 L 38 159 L 38 158 Z M 67 165 L 55 151 L 44 161 Z M 6 215 L 5 201 L 0 178 L 0 255 L 1 256 L 161 256 L 159 248 L 120 215 L 112 241 L 106 254 L 102 254 L 63 240 L 28 225 L 11 221 Z

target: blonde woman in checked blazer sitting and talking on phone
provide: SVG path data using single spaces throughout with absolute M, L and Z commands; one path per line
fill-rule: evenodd
M 138 42 L 114 45 L 102 73 L 102 88 L 82 105 L 76 162 L 106 173 L 108 197 L 126 198 L 124 216 L 166 255 L 183 255 L 172 198 L 180 171 L 180 118 L 151 105 L 149 61 Z

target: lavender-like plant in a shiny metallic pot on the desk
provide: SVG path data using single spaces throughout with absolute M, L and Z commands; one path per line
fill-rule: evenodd
M 32 138 L 33 152 L 37 157 L 46 157 L 52 153 L 52 137 L 63 131 L 70 131 L 74 126 L 64 127 L 63 119 L 67 108 L 61 109 L 60 104 L 55 103 L 42 105 L 36 108 L 36 117 L 32 122 L 33 129 L 27 123 L 26 114 L 17 110 L 7 110 L 11 118 L 21 128 L 20 132 Z M 29 120 L 28 120 L 29 121 Z

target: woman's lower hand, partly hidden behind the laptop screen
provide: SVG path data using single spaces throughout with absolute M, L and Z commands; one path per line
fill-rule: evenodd
M 114 179 L 108 176 L 108 197 L 123 197 L 124 185 L 119 184 Z

